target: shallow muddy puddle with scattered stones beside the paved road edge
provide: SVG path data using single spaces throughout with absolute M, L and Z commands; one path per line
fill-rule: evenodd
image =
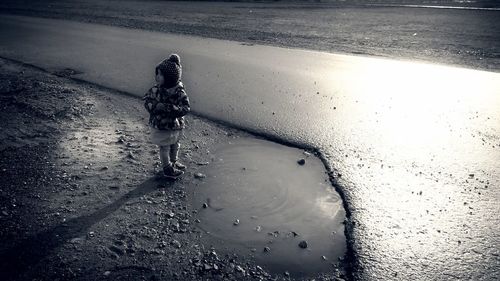
M 189 191 L 206 245 L 253 258 L 275 274 L 308 276 L 338 265 L 345 212 L 317 157 L 257 139 L 221 144 L 213 153 L 200 169 L 206 178 Z

